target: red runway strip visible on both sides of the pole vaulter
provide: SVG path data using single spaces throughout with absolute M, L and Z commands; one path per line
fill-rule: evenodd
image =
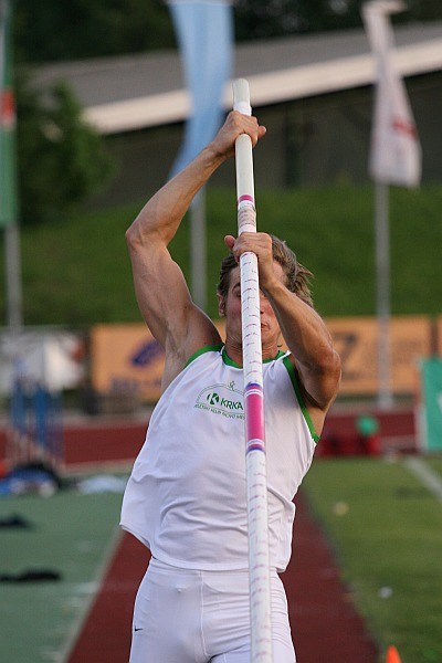
M 376 663 L 376 643 L 339 580 L 327 540 L 302 495 L 296 504 L 294 554 L 282 578 L 298 663 Z M 124 534 L 67 663 L 128 661 L 133 603 L 147 561 L 146 548 Z

